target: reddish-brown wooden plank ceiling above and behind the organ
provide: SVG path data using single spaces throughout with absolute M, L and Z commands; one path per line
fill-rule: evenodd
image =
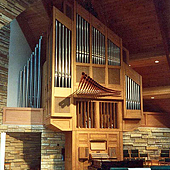
M 63 1 L 36 0 L 17 17 L 30 47 L 46 33 L 52 6 L 62 10 Z M 170 1 L 77 1 L 122 38 L 130 53 L 129 64 L 143 77 L 144 110 L 170 113 Z M 160 62 L 155 64 L 155 60 Z

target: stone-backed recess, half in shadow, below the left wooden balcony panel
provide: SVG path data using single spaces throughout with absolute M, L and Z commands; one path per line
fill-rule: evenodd
M 40 170 L 41 133 L 7 133 L 5 149 L 5 161 L 12 169 Z

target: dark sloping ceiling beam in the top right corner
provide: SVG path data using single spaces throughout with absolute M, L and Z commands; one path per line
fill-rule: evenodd
M 168 61 L 168 65 L 170 68 L 170 57 L 169 57 L 169 49 L 170 49 L 170 43 L 168 38 L 168 30 L 167 30 L 167 21 L 166 21 L 166 0 L 153 0 L 155 5 L 155 10 L 158 18 L 158 23 L 163 39 L 164 49 L 166 58 Z

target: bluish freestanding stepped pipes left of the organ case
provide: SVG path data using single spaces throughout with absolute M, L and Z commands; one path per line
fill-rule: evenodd
M 19 76 L 19 107 L 40 107 L 41 98 L 41 41 L 35 47 Z

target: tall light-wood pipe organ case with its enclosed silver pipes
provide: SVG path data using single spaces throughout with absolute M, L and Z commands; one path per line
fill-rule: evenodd
M 45 125 L 65 133 L 65 169 L 82 170 L 95 159 L 123 160 L 123 131 L 142 116 L 142 82 L 123 62 L 121 38 L 76 2 L 72 11 L 70 19 L 53 7 L 42 102 Z M 78 90 L 82 72 L 119 94 Z

